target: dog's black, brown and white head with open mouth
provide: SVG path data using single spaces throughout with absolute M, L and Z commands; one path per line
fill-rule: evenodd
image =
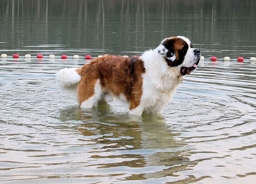
M 179 67 L 181 75 L 194 71 L 201 57 L 200 50 L 194 49 L 190 40 L 181 36 L 165 38 L 157 51 L 169 67 Z

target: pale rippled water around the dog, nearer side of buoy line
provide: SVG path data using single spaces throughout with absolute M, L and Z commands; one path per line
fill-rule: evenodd
M 201 62 L 161 115 L 82 111 L 55 73 L 73 60 L 1 61 L 1 181 L 255 179 L 255 65 Z

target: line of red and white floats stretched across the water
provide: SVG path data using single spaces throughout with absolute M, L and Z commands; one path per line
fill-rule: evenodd
M 102 56 L 103 55 L 98 55 L 98 58 L 101 58 Z M 112 55 L 112 56 L 115 57 L 115 55 Z M 1 58 L 2 59 L 7 59 L 7 58 L 10 58 L 10 57 L 8 57 L 7 54 L 1 54 Z M 129 56 L 128 55 L 123 55 L 123 57 L 129 57 Z M 13 54 L 12 58 L 13 59 L 18 59 L 19 55 L 18 54 Z M 23 57 L 21 57 L 21 58 L 23 58 Z M 37 58 L 37 59 L 42 59 L 42 58 L 48 58 L 48 59 L 58 59 L 58 58 L 60 58 L 60 59 L 70 59 L 71 57 L 68 57 L 67 55 L 61 55 L 61 57 L 55 57 L 55 55 L 53 55 L 53 54 L 48 55 L 46 57 L 43 56 L 42 54 L 37 54 L 36 56 L 32 57 L 31 54 L 26 54 L 26 55 L 24 55 L 24 58 L 26 58 L 26 59 L 30 59 L 30 58 Z M 73 59 L 82 59 L 82 58 L 80 58 L 79 55 L 73 55 L 72 58 Z M 91 60 L 92 59 L 91 55 L 85 55 L 85 57 L 83 57 L 83 58 L 85 58 L 85 60 Z M 216 62 L 217 59 L 218 59 L 217 57 L 211 57 L 210 58 L 210 60 L 212 62 Z M 204 60 L 206 60 L 206 59 L 203 56 L 201 56 L 200 61 L 204 61 Z M 231 59 L 229 57 L 224 57 L 223 59 L 218 59 L 218 60 L 224 60 L 224 62 L 230 62 Z M 234 60 L 234 59 L 232 59 L 232 60 Z M 244 62 L 244 58 L 243 57 L 238 57 L 235 60 L 237 60 L 239 63 L 243 63 Z M 256 63 L 256 58 L 255 57 L 251 57 L 250 58 L 250 63 L 255 64 Z

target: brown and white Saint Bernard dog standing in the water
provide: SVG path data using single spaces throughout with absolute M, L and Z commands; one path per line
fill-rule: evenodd
M 161 113 L 200 56 L 188 38 L 170 37 L 140 57 L 104 55 L 82 68 L 61 69 L 57 80 L 64 89 L 75 87 L 81 108 L 117 98 L 129 104 L 131 115 Z

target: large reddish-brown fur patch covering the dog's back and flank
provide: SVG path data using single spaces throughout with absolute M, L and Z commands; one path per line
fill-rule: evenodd
M 95 58 L 80 69 L 76 69 L 81 75 L 78 83 L 78 103 L 81 103 L 94 94 L 96 81 L 100 79 L 100 85 L 104 93 L 115 96 L 124 94 L 130 102 L 130 110 L 140 104 L 142 96 L 142 73 L 145 73 L 144 62 L 138 57 L 112 57 L 104 55 Z

